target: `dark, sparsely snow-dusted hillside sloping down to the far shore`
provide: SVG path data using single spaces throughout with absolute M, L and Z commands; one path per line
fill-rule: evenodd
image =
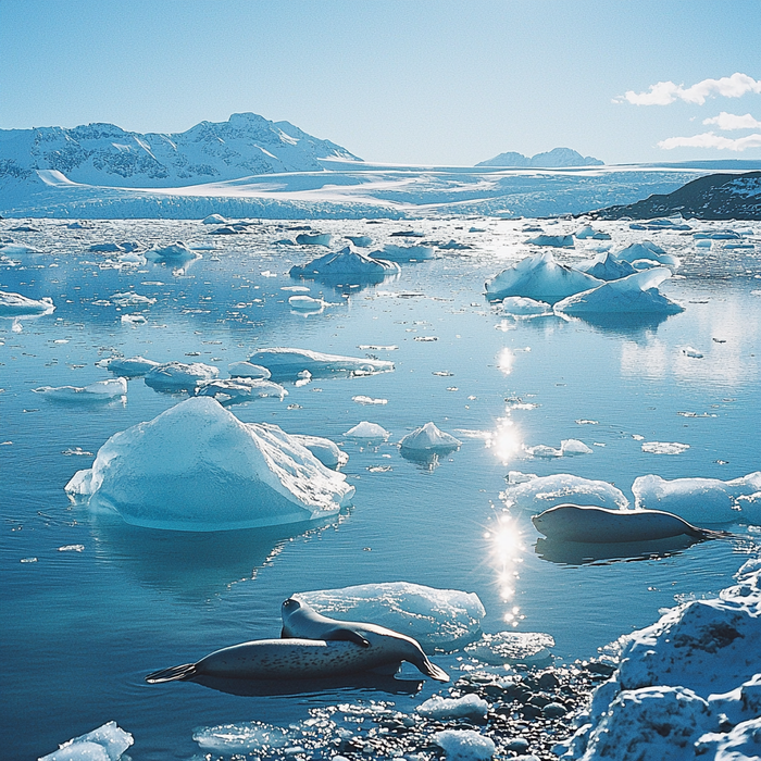
M 710 174 L 666 196 L 588 214 L 592 220 L 652 220 L 682 214 L 698 220 L 761 220 L 761 172 Z

